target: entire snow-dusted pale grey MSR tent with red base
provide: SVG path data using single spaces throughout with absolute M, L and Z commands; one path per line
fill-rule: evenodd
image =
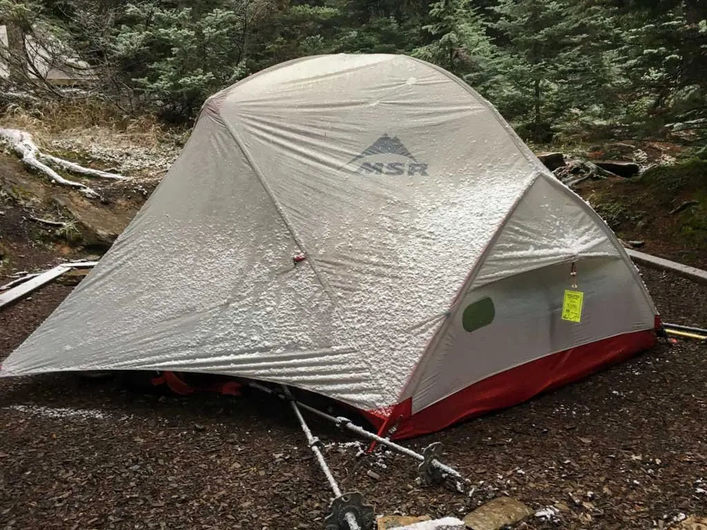
M 411 57 L 332 54 L 209 98 L 0 373 L 257 379 L 403 438 L 629 358 L 657 323 L 611 230 L 489 102 Z

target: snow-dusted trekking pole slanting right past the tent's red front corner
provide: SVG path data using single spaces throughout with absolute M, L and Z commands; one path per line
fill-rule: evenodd
M 425 449 L 423 449 L 422 454 L 420 454 L 418 452 L 413 451 L 412 449 L 408 449 L 407 447 L 403 447 L 402 445 L 396 444 L 395 442 L 391 442 L 387 438 L 378 436 L 373 432 L 358 427 L 358 425 L 354 425 L 354 423 L 351 423 L 351 420 L 349 420 L 348 418 L 343 418 L 341 416 L 339 416 L 339 418 L 334 418 L 334 416 L 322 412 L 317 408 L 304 404 L 301 401 L 296 401 L 296 399 L 293 398 L 292 394 L 289 392 L 287 387 L 284 387 L 284 385 L 283 387 L 287 390 L 286 394 L 280 394 L 278 391 L 269 389 L 268 387 L 264 387 L 262 384 L 255 382 L 250 382 L 249 385 L 250 387 L 253 387 L 255 389 L 267 392 L 267 394 L 274 394 L 280 399 L 287 399 L 293 402 L 293 404 L 297 404 L 298 406 L 304 408 L 306 411 L 310 411 L 311 413 L 320 416 L 320 418 L 324 418 L 325 420 L 331 421 L 339 428 L 346 428 L 351 432 L 355 432 L 360 436 L 368 438 L 369 440 L 375 440 L 376 442 L 385 445 L 386 447 L 390 447 L 390 449 L 394 450 L 395 452 L 399 452 L 400 454 L 404 454 L 408 457 L 420 461 L 421 464 L 419 464 L 417 468 L 417 476 L 421 485 L 426 486 L 431 485 L 433 483 L 441 482 L 446 478 L 446 476 L 451 476 L 457 480 L 457 490 L 462 491 L 460 482 L 464 484 L 469 484 L 469 479 L 464 478 L 459 471 L 451 468 L 450 466 L 442 464 L 442 462 L 438 460 L 438 454 L 442 450 L 441 442 L 434 442 L 432 444 L 429 444 L 427 447 L 425 447 Z

